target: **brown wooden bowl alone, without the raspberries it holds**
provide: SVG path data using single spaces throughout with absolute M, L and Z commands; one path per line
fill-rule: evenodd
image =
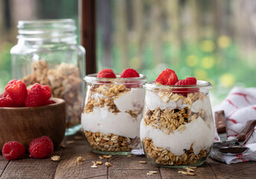
M 43 107 L 0 107 L 0 148 L 5 142 L 20 142 L 28 150 L 32 139 L 49 136 L 54 147 L 65 136 L 65 101 L 51 98 Z

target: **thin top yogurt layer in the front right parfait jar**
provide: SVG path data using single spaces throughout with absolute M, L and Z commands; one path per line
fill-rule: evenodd
M 182 110 L 185 107 L 188 107 L 187 104 L 184 104 L 182 102 L 181 99 L 179 99 L 178 101 L 172 101 L 169 100 L 168 102 L 163 102 L 163 100 L 157 95 L 156 92 L 152 92 L 152 91 L 147 91 L 146 92 L 146 107 L 149 108 L 149 110 L 155 110 L 158 107 L 160 107 L 160 110 L 173 110 L 173 109 L 179 109 Z M 202 100 L 197 100 L 195 102 L 193 102 L 191 109 L 193 111 L 193 113 L 199 113 L 199 109 L 205 110 L 205 111 L 211 111 L 210 108 L 210 100 L 209 98 L 205 98 L 204 101 Z

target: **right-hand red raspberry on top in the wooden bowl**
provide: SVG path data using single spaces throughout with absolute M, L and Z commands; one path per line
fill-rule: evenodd
M 28 97 L 25 100 L 26 107 L 39 107 L 49 104 L 51 90 L 49 87 L 34 84 L 31 90 L 28 90 Z

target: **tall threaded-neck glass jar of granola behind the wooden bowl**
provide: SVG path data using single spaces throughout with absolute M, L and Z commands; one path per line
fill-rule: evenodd
M 49 85 L 52 95 L 66 101 L 66 128 L 81 122 L 85 50 L 77 44 L 75 21 L 19 21 L 18 43 L 10 50 L 13 78 L 28 86 Z

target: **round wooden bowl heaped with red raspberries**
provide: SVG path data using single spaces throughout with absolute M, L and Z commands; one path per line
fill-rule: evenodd
M 51 98 L 48 86 L 34 84 L 30 90 L 19 80 L 12 80 L 0 94 L 0 149 L 16 141 L 28 151 L 30 142 L 49 136 L 54 147 L 65 135 L 65 101 Z

